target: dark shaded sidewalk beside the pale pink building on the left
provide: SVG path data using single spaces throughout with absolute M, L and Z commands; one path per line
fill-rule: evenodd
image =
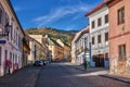
M 0 77 L 0 87 L 35 87 L 41 67 L 27 66 Z

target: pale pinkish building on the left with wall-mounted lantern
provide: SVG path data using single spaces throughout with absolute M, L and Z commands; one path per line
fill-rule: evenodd
M 24 35 L 10 0 L 0 0 L 0 75 L 22 67 Z

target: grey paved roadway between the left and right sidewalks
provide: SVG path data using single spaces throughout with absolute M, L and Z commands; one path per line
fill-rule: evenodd
M 130 87 L 129 83 L 87 74 L 65 63 L 53 63 L 43 67 L 35 87 Z

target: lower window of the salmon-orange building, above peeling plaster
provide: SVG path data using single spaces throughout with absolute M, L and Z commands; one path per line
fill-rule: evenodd
M 125 61 L 126 60 L 126 45 L 120 45 L 118 49 L 119 49 L 119 61 Z

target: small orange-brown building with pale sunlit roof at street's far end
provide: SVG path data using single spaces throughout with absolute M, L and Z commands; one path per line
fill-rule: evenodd
M 61 39 L 57 39 L 56 42 L 64 48 L 64 59 L 70 58 L 70 47 L 64 44 Z

